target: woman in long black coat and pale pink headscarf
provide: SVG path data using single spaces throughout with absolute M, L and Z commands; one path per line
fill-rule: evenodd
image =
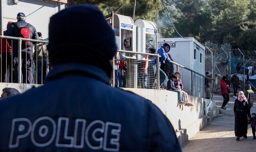
M 236 141 L 240 137 L 247 138 L 247 120 L 250 120 L 251 114 L 248 107 L 248 101 L 244 96 L 244 92 L 239 91 L 238 98 L 235 100 L 234 104 L 234 115 L 235 115 L 235 135 Z

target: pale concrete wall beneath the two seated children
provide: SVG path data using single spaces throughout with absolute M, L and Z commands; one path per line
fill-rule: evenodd
M 176 135 L 182 145 L 207 124 L 204 115 L 204 101 L 202 98 L 189 96 L 194 106 L 178 104 L 178 93 L 167 90 L 123 88 L 151 100 L 158 106 L 172 123 Z

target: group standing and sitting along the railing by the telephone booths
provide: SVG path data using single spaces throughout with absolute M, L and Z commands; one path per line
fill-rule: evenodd
M 166 90 L 178 93 L 178 103 L 185 106 L 193 106 L 188 100 L 188 94 L 183 90 L 180 72 L 174 73 L 174 64 L 171 62 L 170 44 L 164 43 L 157 53 L 159 60 L 160 86 Z M 155 48 L 149 48 L 149 52 L 155 54 Z M 123 62 L 123 63 L 122 63 Z M 120 54 L 115 56 L 115 86 L 126 87 L 127 62 L 120 60 Z M 145 60 L 139 60 L 137 64 L 137 88 L 155 89 L 156 84 L 156 57 L 145 55 Z M 125 83 L 124 83 L 125 82 Z

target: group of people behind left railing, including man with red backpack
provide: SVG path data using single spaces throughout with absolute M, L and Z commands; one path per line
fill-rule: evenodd
M 26 15 L 24 13 L 18 13 L 16 18 L 17 22 L 8 22 L 4 36 L 43 40 L 42 33 L 37 32 L 34 26 L 25 21 Z M 18 83 L 18 40 L 1 39 L 1 41 L 1 82 L 8 82 L 6 69 L 9 69 L 9 82 Z M 49 69 L 47 56 L 45 43 L 22 40 L 22 83 L 44 84 Z M 33 71 L 35 72 L 33 73 Z M 33 78 L 33 74 L 35 78 Z

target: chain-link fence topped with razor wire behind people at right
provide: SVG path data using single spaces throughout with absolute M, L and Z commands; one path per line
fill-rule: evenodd
M 251 84 L 252 90 L 256 90 L 256 51 L 240 50 L 239 48 L 231 49 L 227 44 L 221 47 L 211 47 L 206 46 L 205 71 L 210 74 L 213 73 L 211 77 L 216 80 L 214 84 L 215 92 L 220 91 L 222 76 L 227 75 L 230 80 L 234 73 L 237 73 L 236 76 L 240 80 L 239 90 L 246 90 L 246 83 Z

